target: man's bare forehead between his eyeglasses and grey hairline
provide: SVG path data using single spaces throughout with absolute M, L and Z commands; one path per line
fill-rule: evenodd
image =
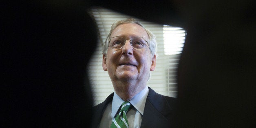
M 143 37 L 148 40 L 148 34 L 146 30 L 135 23 L 125 23 L 118 25 L 110 37 L 121 36 L 123 38 L 132 38 L 132 37 Z

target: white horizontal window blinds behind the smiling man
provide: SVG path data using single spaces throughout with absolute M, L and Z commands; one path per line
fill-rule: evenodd
M 100 7 L 92 8 L 89 13 L 95 19 L 99 29 L 99 44 L 97 44 L 97 49 L 87 67 L 92 85 L 94 105 L 97 105 L 114 92 L 108 73 L 103 71 L 102 68 L 103 43 L 113 22 L 134 17 Z M 185 40 L 185 30 L 135 19 L 154 33 L 157 38 L 157 65 L 155 71 L 151 72 L 148 86 L 162 95 L 176 97 L 176 71 Z

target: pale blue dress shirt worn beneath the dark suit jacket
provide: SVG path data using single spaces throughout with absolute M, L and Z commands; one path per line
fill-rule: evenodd
M 144 107 L 148 96 L 148 87 L 144 88 L 137 95 L 130 99 L 132 105 L 131 109 L 126 113 L 129 128 L 140 128 L 141 120 L 143 118 Z M 115 115 L 119 113 L 119 108 L 124 102 L 116 93 L 114 93 L 113 101 L 108 104 L 102 119 L 100 121 L 99 128 L 110 128 L 112 120 Z

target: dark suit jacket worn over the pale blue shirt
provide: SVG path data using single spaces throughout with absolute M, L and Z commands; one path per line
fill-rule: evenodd
M 170 128 L 174 118 L 176 99 L 156 93 L 150 87 L 146 99 L 141 128 Z M 102 115 L 109 102 L 112 101 L 114 93 L 109 95 L 104 102 L 93 108 L 94 118 L 92 128 L 97 128 Z

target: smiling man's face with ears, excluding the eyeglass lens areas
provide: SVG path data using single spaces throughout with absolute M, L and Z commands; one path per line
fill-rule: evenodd
M 151 55 L 148 44 L 143 49 L 135 49 L 130 44 L 134 37 L 143 37 L 148 40 L 148 34 L 138 24 L 120 24 L 111 33 L 110 38 L 119 36 L 126 40 L 121 49 L 108 47 L 103 55 L 102 67 L 108 71 L 112 82 L 135 81 L 147 82 L 150 71 L 154 71 L 156 56 Z

